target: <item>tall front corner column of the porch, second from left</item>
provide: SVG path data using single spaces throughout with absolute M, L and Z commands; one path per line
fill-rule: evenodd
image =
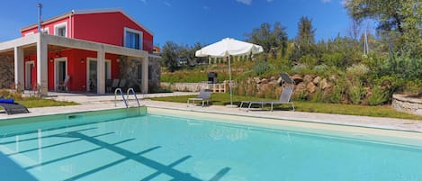
M 48 92 L 48 57 L 47 42 L 41 36 L 37 41 L 37 85 L 40 86 L 40 95 L 47 95 Z

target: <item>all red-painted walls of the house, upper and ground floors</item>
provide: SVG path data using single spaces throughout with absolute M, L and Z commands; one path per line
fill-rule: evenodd
M 124 14 L 116 13 L 101 13 L 101 14 L 75 14 L 71 18 L 71 25 L 69 18 L 65 17 L 61 20 L 46 23 L 42 28 L 48 27 L 49 34 L 54 34 L 54 25 L 58 23 L 67 23 L 67 37 L 81 39 L 86 41 L 96 41 L 116 46 L 124 46 L 124 27 L 143 32 L 142 49 L 152 53 L 153 36 L 145 31 L 137 23 L 134 23 Z M 70 28 L 73 29 L 70 30 Z M 22 36 L 28 32 L 38 32 L 37 27 L 23 31 Z M 67 74 L 70 76 L 68 88 L 70 91 L 86 91 L 86 58 L 96 58 L 95 51 L 88 50 L 63 50 L 60 51 L 59 57 L 67 57 Z M 56 52 L 49 52 L 48 54 L 48 87 L 49 90 L 54 90 L 54 59 L 57 58 Z M 36 55 L 29 56 L 34 60 L 34 75 L 32 76 L 32 85 L 36 85 L 37 80 L 37 57 Z M 52 61 L 50 61 L 52 59 Z M 84 62 L 81 61 L 84 59 Z M 106 53 L 105 59 L 112 60 L 112 79 L 119 77 L 119 63 L 116 61 L 118 55 Z M 25 71 L 24 71 L 25 72 Z M 23 83 L 24 84 L 24 83 Z

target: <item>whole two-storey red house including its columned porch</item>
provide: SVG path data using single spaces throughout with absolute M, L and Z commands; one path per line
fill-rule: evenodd
M 8 84 L 16 89 L 104 94 L 120 84 L 147 93 L 159 84 L 153 33 L 120 9 L 73 10 L 38 28 L 24 27 L 22 38 L 0 43 L 0 68 L 13 64 Z M 8 85 L 7 74 L 0 72 L 0 87 Z

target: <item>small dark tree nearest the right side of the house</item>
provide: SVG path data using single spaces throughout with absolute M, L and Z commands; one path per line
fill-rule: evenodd
M 168 71 L 174 72 L 177 69 L 177 60 L 180 54 L 180 46 L 173 41 L 166 41 L 161 52 L 161 57 L 164 66 L 168 68 Z

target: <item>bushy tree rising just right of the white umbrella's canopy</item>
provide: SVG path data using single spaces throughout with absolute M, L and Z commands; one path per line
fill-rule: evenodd
M 274 23 L 274 28 L 271 24 L 262 23 L 260 28 L 256 28 L 252 33 L 247 33 L 247 41 L 261 45 L 264 49 L 265 60 L 271 54 L 274 58 L 277 57 L 277 51 L 281 50 L 281 55 L 284 56 L 287 50 L 287 33 L 286 27 L 281 23 Z

